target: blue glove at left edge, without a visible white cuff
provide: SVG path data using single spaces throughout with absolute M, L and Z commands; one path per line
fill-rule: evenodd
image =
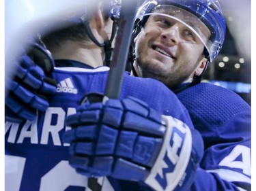
M 6 77 L 5 120 L 20 123 L 34 120 L 37 111 L 46 111 L 48 97 L 57 83 L 47 77 L 53 71 L 51 53 L 40 44 L 30 42 L 31 48 L 15 60 L 10 76 Z

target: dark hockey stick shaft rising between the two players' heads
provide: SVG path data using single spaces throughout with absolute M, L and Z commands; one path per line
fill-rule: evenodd
M 122 0 L 121 9 L 115 48 L 104 93 L 105 97 L 109 99 L 118 99 L 121 92 L 134 18 L 137 11 L 137 0 Z

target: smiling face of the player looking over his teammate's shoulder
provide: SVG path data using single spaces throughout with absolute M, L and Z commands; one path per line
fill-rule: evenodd
M 150 15 L 134 40 L 142 77 L 156 78 L 171 88 L 190 79 L 206 63 L 203 42 L 210 32 L 197 18 L 182 17 L 185 23 L 162 13 Z

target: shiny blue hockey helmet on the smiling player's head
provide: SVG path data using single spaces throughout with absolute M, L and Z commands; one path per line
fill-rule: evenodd
M 137 34 L 141 30 L 151 14 L 157 14 L 160 9 L 172 10 L 173 8 L 184 10 L 196 16 L 198 22 L 202 22 L 208 28 L 210 37 L 206 37 L 206 35 L 202 37 L 201 34 L 197 33 L 197 30 L 193 30 L 195 27 L 191 26 L 190 22 L 184 20 L 182 16 L 179 16 L 179 14 L 171 16 L 171 18 L 182 22 L 196 33 L 205 46 L 205 56 L 212 62 L 223 46 L 226 33 L 225 18 L 217 0 L 146 0 L 137 12 L 137 25 L 134 33 Z M 168 14 L 168 12 L 165 14 Z

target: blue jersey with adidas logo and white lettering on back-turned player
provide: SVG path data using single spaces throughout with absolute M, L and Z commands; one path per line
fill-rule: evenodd
M 131 181 L 111 178 L 88 181 L 68 164 L 69 145 L 61 141 L 63 133 L 70 129 L 64 123 L 65 118 L 76 112 L 87 93 L 104 92 L 109 68 L 86 68 L 68 60 L 57 60 L 58 63 L 67 67 L 56 67 L 53 71 L 57 92 L 49 98 L 46 112 L 39 113 L 33 122 L 5 122 L 5 191 L 87 191 L 97 186 L 107 191 L 139 190 L 140 185 Z M 156 80 L 124 75 L 120 98 L 127 96 L 137 97 L 161 114 L 192 126 L 184 105 Z

